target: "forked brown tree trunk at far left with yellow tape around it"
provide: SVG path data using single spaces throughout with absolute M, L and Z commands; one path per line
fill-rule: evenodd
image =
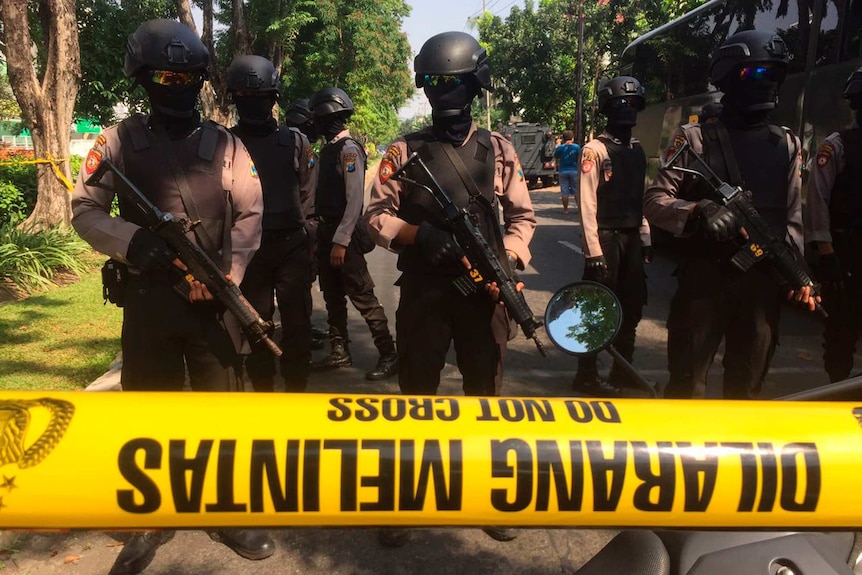
M 78 86 L 81 81 L 81 51 L 75 0 L 42 0 L 40 21 L 46 50 L 41 81 L 33 65 L 27 18 L 28 2 L 0 0 L 9 84 L 24 124 L 33 137 L 37 159 L 54 162 L 67 181 L 69 169 L 69 130 Z M 36 207 L 24 226 L 49 228 L 68 226 L 72 220 L 71 194 L 56 175 L 51 163 L 38 164 Z

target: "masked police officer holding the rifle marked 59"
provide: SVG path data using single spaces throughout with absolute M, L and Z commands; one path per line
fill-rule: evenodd
M 754 206 L 776 234 L 801 246 L 799 139 L 767 122 L 787 64 L 787 45 L 776 34 L 746 30 L 728 37 L 710 64 L 710 81 L 724 93 L 718 121 L 679 128 L 666 158 L 688 142 L 719 177 L 751 192 Z M 681 158 L 678 165 L 693 164 L 691 158 Z M 650 224 L 685 238 L 686 244 L 667 322 L 666 397 L 704 393 L 722 338 L 724 397 L 751 397 L 761 388 L 778 341 L 779 310 L 787 290 L 766 262 L 745 272 L 731 264 L 739 250 L 741 224 L 712 198 L 702 178 L 666 168 L 659 170 L 644 197 Z M 814 309 L 808 288 L 794 295 Z

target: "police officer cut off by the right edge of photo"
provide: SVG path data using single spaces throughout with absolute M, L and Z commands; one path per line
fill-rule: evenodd
M 823 363 L 830 381 L 850 377 L 862 329 L 862 68 L 844 85 L 853 126 L 826 137 L 811 167 L 806 206 L 806 240 L 814 242 L 814 272 L 823 284 L 829 313 L 823 332 Z

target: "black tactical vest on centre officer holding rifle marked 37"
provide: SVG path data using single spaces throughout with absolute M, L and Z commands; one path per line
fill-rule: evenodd
M 459 208 L 467 208 L 473 223 L 476 224 L 488 243 L 491 246 L 496 246 L 498 257 L 505 255 L 503 246 L 499 245 L 500 242 L 495 239 L 498 234 L 493 234 L 491 230 L 492 225 L 499 225 L 496 213 L 496 194 L 494 194 L 495 157 L 491 145 L 491 132 L 480 128 L 466 144 L 452 149 L 464 163 L 467 173 L 476 183 L 479 193 L 491 204 L 493 213 L 488 213 L 487 209 L 483 208 L 477 201 L 471 201 L 467 186 L 442 149 L 442 146 L 451 146 L 450 143 L 437 141 L 431 130 L 408 134 L 405 136 L 405 140 L 407 141 L 408 155 L 413 152 L 419 154 L 422 161 L 434 174 L 434 178 L 449 194 L 452 203 Z M 430 179 L 423 170 L 410 166 L 407 171 L 410 179 L 433 189 Z M 428 221 L 437 227 L 446 229 L 443 210 L 437 201 L 427 190 L 411 184 L 404 184 L 398 217 L 413 225 Z M 398 269 L 453 276 L 464 273 L 461 267 L 455 265 L 431 269 L 428 261 L 422 257 L 415 246 L 407 246 L 398 256 Z

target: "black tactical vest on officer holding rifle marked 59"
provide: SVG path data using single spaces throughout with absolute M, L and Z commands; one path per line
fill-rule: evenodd
M 700 125 L 703 134 L 703 159 L 719 178 L 750 191 L 751 201 L 757 212 L 773 233 L 784 238 L 787 235 L 787 189 L 791 168 L 785 130 L 772 125 L 747 130 L 726 126 L 731 150 L 724 150 L 717 132 L 723 126 L 725 125 L 718 122 Z M 739 181 L 734 181 L 734 170 L 732 166 L 728 166 L 726 156 L 735 160 Z M 702 181 L 681 197 L 695 202 L 704 198 L 716 199 Z M 696 244 L 694 247 L 702 249 L 704 253 L 721 257 L 730 257 L 737 249 L 731 242 L 719 245 L 701 236 L 693 243 Z

